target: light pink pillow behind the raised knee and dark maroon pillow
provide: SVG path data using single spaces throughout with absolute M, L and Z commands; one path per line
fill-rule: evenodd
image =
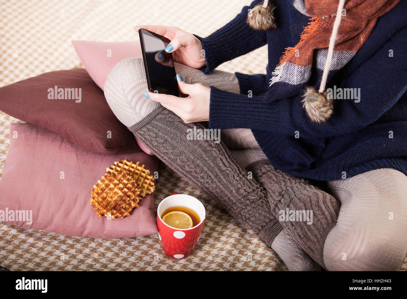
M 83 66 L 93 81 L 103 90 L 107 76 L 114 66 L 123 59 L 142 57 L 140 41 L 99 43 L 96 41 L 71 41 Z M 144 143 L 136 137 L 140 148 L 153 155 Z

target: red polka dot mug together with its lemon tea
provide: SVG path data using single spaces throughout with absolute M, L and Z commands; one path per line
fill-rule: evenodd
M 204 221 L 205 207 L 195 197 L 174 193 L 164 198 L 157 208 L 157 227 L 166 255 L 176 259 L 190 255 L 201 236 Z

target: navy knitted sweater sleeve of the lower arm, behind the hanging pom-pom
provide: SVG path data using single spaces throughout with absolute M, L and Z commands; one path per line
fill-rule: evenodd
M 301 96 L 267 103 L 268 92 L 249 98 L 211 87 L 209 125 L 211 128 L 249 128 L 293 135 L 328 137 L 352 133 L 377 120 L 407 89 L 407 27 L 387 39 L 372 56 L 361 63 L 341 88 L 359 88 L 359 99 L 336 100 L 334 113 L 322 124 L 311 122 L 302 107 Z M 394 57 L 389 57 L 389 49 Z M 397 54 L 396 54 L 397 53 Z

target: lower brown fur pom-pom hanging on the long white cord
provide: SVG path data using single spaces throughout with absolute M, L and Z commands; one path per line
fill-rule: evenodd
M 326 92 L 320 93 L 313 87 L 307 87 L 301 101 L 306 113 L 313 122 L 326 122 L 333 113 L 333 100 L 326 97 Z

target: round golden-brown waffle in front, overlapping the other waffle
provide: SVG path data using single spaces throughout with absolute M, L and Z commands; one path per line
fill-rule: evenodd
M 140 189 L 129 172 L 121 170 L 115 174 L 107 173 L 93 186 L 90 204 L 98 210 L 96 216 L 123 218 L 138 207 Z

